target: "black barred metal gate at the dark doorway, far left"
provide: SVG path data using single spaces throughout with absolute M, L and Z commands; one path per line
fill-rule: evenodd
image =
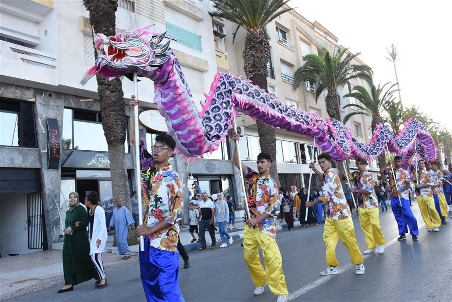
M 42 198 L 41 192 L 27 194 L 28 248 L 41 250 L 42 242 Z

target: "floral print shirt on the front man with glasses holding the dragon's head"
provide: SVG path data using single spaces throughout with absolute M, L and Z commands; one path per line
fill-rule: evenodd
M 155 226 L 164 220 L 170 226 L 149 235 L 150 246 L 164 251 L 177 251 L 179 226 L 183 207 L 182 183 L 171 165 L 157 170 L 152 155 L 144 145 L 141 148 L 141 191 L 144 209 L 148 213 L 147 226 Z

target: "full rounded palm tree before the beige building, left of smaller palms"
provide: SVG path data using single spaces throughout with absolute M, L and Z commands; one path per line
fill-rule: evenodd
M 340 121 L 337 87 L 347 85 L 350 90 L 350 81 L 355 78 L 362 78 L 371 83 L 372 68 L 367 65 L 351 65 L 351 61 L 360 53 L 351 54 L 346 48 L 337 51 L 335 49 L 333 55 L 330 55 L 326 48 L 322 48 L 322 52 L 322 57 L 316 54 L 303 57 L 305 63 L 295 71 L 294 89 L 298 88 L 300 83 L 309 81 L 316 85 L 316 100 L 326 89 L 328 91 L 325 97 L 326 111 L 330 118 Z

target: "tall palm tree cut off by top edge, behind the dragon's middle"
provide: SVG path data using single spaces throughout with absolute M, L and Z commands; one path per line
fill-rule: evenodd
M 289 0 L 213 0 L 215 11 L 212 17 L 222 18 L 235 23 L 247 31 L 245 47 L 242 52 L 245 74 L 255 85 L 266 89 L 267 62 L 270 59 L 270 43 L 266 25 L 278 16 L 292 10 L 283 8 Z M 267 152 L 276 159 L 275 129 L 256 121 L 259 144 L 262 152 Z M 270 167 L 270 174 L 279 184 L 277 165 Z

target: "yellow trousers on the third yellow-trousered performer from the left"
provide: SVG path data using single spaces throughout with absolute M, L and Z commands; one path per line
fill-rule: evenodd
M 378 208 L 359 208 L 359 224 L 366 238 L 366 247 L 375 249 L 379 245 L 386 244 L 385 235 L 383 235 L 380 226 L 380 210 Z

